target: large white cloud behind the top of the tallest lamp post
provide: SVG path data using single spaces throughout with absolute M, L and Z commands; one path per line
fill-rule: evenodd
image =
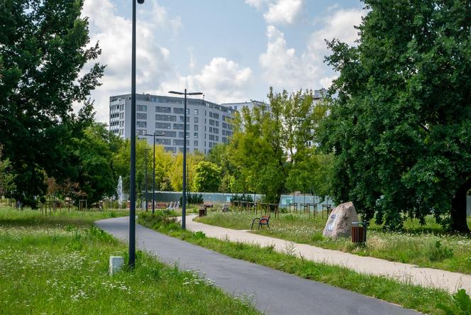
M 156 1 L 151 1 L 151 4 L 153 9 L 150 12 L 156 17 L 140 19 L 136 29 L 136 89 L 138 93 L 155 89 L 167 78 L 166 74 L 174 71 L 170 62 L 170 51 L 157 43 L 154 30 L 166 28 L 167 31 L 173 33 L 182 27 L 179 18 L 170 18 L 167 11 L 158 6 Z M 138 14 L 148 13 L 138 11 Z M 107 122 L 109 96 L 131 92 L 131 20 L 118 16 L 110 0 L 86 0 L 82 16 L 89 17 L 91 45 L 98 41 L 101 48 L 98 60 L 93 60 L 86 65 L 84 71 L 87 71 L 94 62 L 107 65 L 104 77 L 101 78 L 101 87 L 97 87 L 92 92 L 92 99 L 95 99 L 96 118 Z

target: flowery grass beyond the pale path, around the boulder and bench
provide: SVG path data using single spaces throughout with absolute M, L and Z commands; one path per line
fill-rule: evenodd
M 243 212 L 214 211 L 196 221 L 246 230 L 254 217 L 255 214 Z M 420 226 L 416 220 L 406 221 L 401 232 L 384 231 L 372 224 L 368 228 L 367 244 L 361 246 L 351 243 L 349 238 L 323 238 L 326 216 L 280 214 L 279 219 L 270 219 L 270 229 L 262 228 L 253 233 L 356 255 L 471 274 L 471 236 L 445 233 L 433 218 L 427 217 L 426 220 L 426 226 Z

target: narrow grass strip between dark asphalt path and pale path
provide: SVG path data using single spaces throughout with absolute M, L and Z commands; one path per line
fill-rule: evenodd
M 202 232 L 182 231 L 174 219 L 165 216 L 144 214 L 139 216 L 138 223 L 233 258 L 265 265 L 306 279 L 332 284 L 426 314 L 442 314 L 436 308 L 438 303 L 445 306 L 453 305 L 450 294 L 440 289 L 400 283 L 387 277 L 362 275 L 345 267 L 297 258 L 288 251 L 287 253 L 278 253 L 273 247 L 260 247 L 259 245 L 206 238 Z

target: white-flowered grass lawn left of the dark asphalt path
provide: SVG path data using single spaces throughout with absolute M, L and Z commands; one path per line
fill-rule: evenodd
M 0 208 L 0 314 L 259 314 L 142 252 L 134 270 L 109 276 L 109 256 L 127 246 L 92 223 L 126 213 Z

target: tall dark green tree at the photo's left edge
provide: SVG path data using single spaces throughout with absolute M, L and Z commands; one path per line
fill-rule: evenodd
M 82 6 L 82 0 L 0 2 L 0 143 L 17 175 L 14 197 L 32 206 L 45 193 L 45 172 L 58 181 L 75 172 L 67 143 L 89 125 L 88 96 L 104 71 L 95 64 L 81 75 L 100 53 L 89 46 Z M 74 102 L 84 104 L 78 115 Z

